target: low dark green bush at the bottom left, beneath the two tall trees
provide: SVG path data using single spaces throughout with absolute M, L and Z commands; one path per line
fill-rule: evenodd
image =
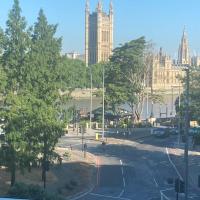
M 26 185 L 24 183 L 16 183 L 8 191 L 8 195 L 13 198 L 33 199 L 33 200 L 64 200 L 57 194 L 45 192 L 38 185 Z

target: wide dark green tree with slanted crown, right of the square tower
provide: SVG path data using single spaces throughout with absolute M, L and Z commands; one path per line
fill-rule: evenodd
M 144 98 L 145 48 L 146 41 L 141 37 L 114 49 L 106 70 L 106 90 L 113 91 L 112 96 L 107 92 L 108 99 L 113 103 L 127 102 L 137 120 Z

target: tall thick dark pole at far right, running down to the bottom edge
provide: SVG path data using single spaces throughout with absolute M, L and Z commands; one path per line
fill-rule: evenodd
M 186 67 L 186 101 L 185 101 L 185 200 L 188 200 L 188 131 L 189 131 L 189 66 Z

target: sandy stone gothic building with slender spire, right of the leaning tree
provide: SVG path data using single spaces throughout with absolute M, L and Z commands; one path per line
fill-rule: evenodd
M 200 64 L 200 60 L 197 58 L 193 62 Z M 162 48 L 160 48 L 159 53 L 152 56 L 151 67 L 146 80 L 147 87 L 163 91 L 182 88 L 180 78 L 185 76 L 183 66 L 187 64 L 191 64 L 191 59 L 189 43 L 184 29 L 177 61 L 172 60 L 170 56 L 163 53 Z

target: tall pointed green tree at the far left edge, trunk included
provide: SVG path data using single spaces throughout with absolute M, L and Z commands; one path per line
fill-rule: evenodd
M 29 35 L 26 31 L 25 18 L 21 16 L 19 1 L 15 0 L 9 13 L 5 34 L 0 34 L 2 47 L 1 79 L 4 79 L 5 96 L 2 115 L 5 117 L 6 166 L 11 172 L 11 186 L 15 183 L 17 166 L 23 166 L 24 152 L 23 117 L 20 112 L 20 100 L 24 85 L 26 55 L 29 49 Z M 6 77 L 6 79 L 5 79 Z M 1 87 L 2 89 L 2 87 Z M 3 90 L 1 92 L 3 92 Z M 4 152 L 5 152 L 4 151 Z

